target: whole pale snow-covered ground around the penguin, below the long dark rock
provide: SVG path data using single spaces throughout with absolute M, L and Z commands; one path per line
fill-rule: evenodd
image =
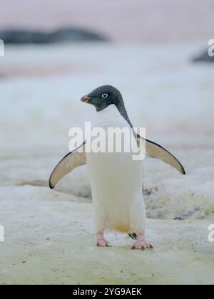
M 214 283 L 213 65 L 190 62 L 202 44 L 6 48 L 0 58 L 0 283 Z M 68 130 L 92 107 L 80 102 L 115 85 L 134 125 L 183 163 L 144 166 L 148 238 L 96 248 L 86 167 L 48 187 L 68 152 Z M 74 194 L 74 195 L 73 195 Z M 182 220 L 173 220 L 182 219 Z M 116 238 L 114 238 L 116 237 Z

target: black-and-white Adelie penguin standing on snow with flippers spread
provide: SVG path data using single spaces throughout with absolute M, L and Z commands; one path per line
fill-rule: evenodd
M 126 112 L 121 93 L 111 85 L 103 85 L 81 98 L 83 103 L 95 107 L 94 127 L 133 128 Z M 141 136 L 133 132 L 136 147 Z M 150 140 L 146 142 L 146 157 L 161 159 L 175 167 L 181 174 L 185 170 L 170 152 Z M 61 159 L 49 179 L 53 189 L 76 167 L 87 164 L 91 181 L 94 224 L 97 246 L 106 247 L 106 230 L 129 234 L 136 239 L 133 249 L 153 248 L 146 240 L 146 211 L 143 201 L 143 160 L 133 160 L 133 152 L 84 152 L 86 142 Z M 126 141 L 125 141 L 126 142 Z

